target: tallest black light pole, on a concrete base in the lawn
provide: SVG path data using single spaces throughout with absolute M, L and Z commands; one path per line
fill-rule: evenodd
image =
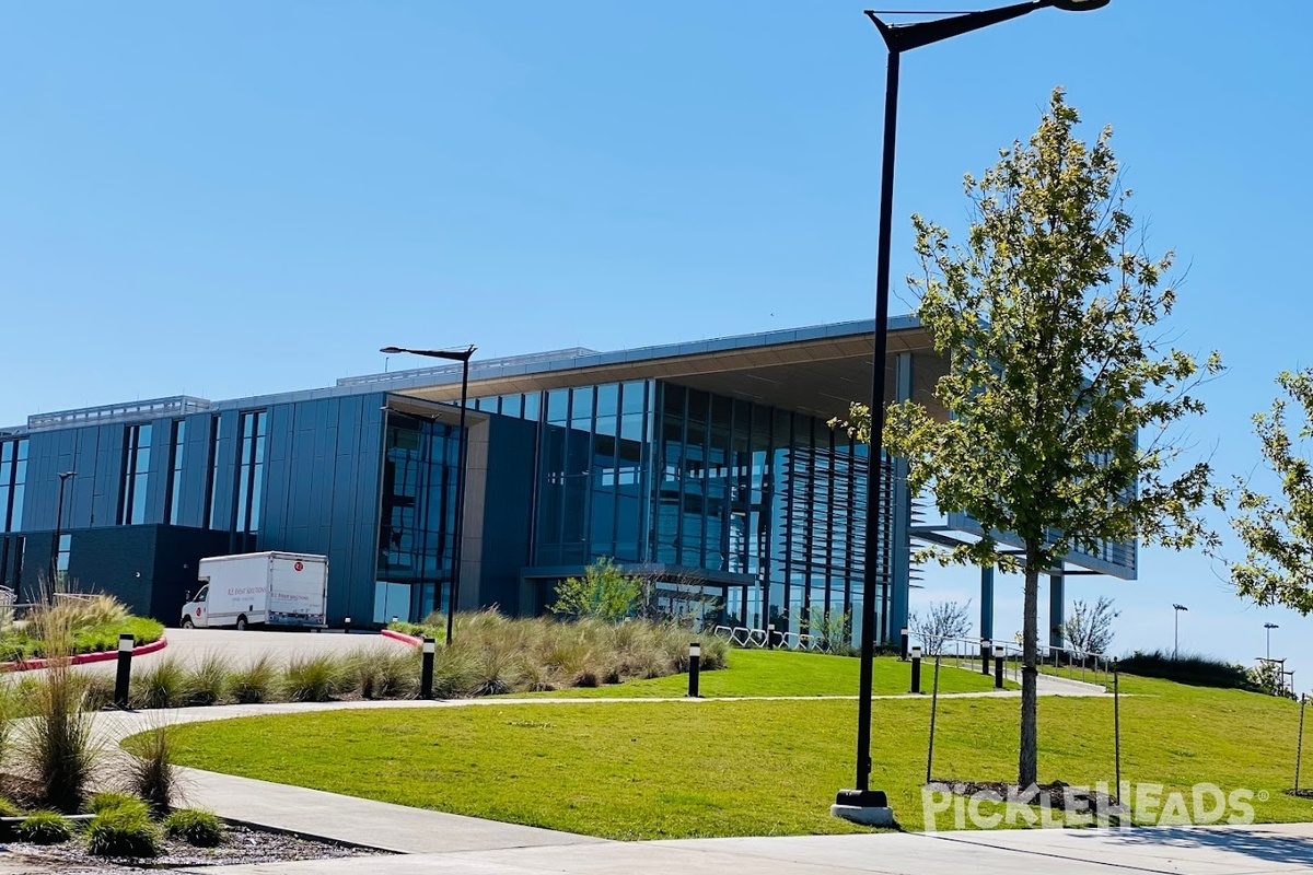
M 893 820 L 884 791 L 871 790 L 871 682 L 876 649 L 876 601 L 880 586 L 878 538 L 880 493 L 882 491 L 885 428 L 885 356 L 889 328 L 889 262 L 894 213 L 894 147 L 898 130 L 898 64 L 905 51 L 958 37 L 981 28 L 1019 18 L 1037 9 L 1053 7 L 1067 12 L 1086 12 L 1108 5 L 1109 0 L 1032 0 L 999 9 L 968 12 L 949 18 L 914 24 L 886 24 L 877 12 L 868 10 L 880 35 L 889 47 L 889 71 L 885 79 L 884 164 L 880 172 L 880 237 L 876 262 L 876 332 L 871 379 L 871 472 L 867 478 L 867 544 L 861 598 L 861 672 L 857 689 L 857 781 L 856 788 L 840 790 L 834 813 L 865 824 L 884 825 Z

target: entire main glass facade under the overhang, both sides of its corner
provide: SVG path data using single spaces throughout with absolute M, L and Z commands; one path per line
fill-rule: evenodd
M 537 421 L 533 563 L 654 567 L 663 610 L 860 636 L 867 446 L 811 416 L 656 380 L 503 395 L 477 409 Z M 885 478 L 889 483 L 890 479 Z M 877 533 L 881 626 L 890 572 Z

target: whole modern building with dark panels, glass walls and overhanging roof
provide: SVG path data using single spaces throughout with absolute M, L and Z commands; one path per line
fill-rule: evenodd
M 34 415 L 0 429 L 0 584 L 76 581 L 176 622 L 202 556 L 316 552 L 330 622 L 361 627 L 445 610 L 457 555 L 460 607 L 513 614 L 612 558 L 662 611 L 856 638 L 871 597 L 895 640 L 914 539 L 970 531 L 920 519 L 884 460 L 880 586 L 864 590 L 871 459 L 827 422 L 869 396 L 872 328 L 475 359 L 461 519 L 461 365 Z M 886 396 L 930 403 L 943 363 L 922 327 L 893 320 L 889 349 Z M 1134 573 L 1133 550 L 1094 559 Z

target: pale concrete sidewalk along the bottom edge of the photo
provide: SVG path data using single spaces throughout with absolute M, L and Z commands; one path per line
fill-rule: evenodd
M 389 875 L 926 875 L 1060 871 L 1266 875 L 1313 868 L 1313 824 L 1146 829 L 1033 829 L 792 838 L 599 842 L 360 859 L 196 868 L 197 875 L 345 875 L 376 866 Z

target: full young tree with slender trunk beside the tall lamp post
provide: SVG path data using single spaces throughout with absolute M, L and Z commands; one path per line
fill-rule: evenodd
M 1209 466 L 1178 470 L 1171 426 L 1204 411 L 1191 392 L 1221 362 L 1200 365 L 1157 333 L 1176 300 L 1170 283 L 1159 289 L 1173 256 L 1134 245 L 1111 130 L 1087 144 L 1078 122 L 1054 91 L 1029 142 L 966 177 L 964 244 L 914 216 L 923 274 L 910 282 L 948 361 L 935 395 L 951 416 L 905 403 L 885 426 L 914 492 L 930 488 L 941 510 L 1022 543 L 1020 556 L 999 555 L 991 537 L 937 556 L 1024 569 L 1022 786 L 1036 781 L 1040 575 L 1074 547 L 1212 539 L 1194 513 Z M 848 426 L 869 434 L 869 416 L 857 407 Z

